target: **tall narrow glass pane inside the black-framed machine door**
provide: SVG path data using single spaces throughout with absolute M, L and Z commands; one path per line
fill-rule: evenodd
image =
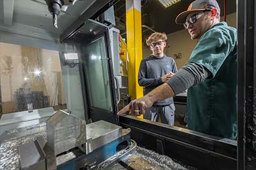
M 83 52 L 90 104 L 93 108 L 112 111 L 104 37 L 84 47 Z

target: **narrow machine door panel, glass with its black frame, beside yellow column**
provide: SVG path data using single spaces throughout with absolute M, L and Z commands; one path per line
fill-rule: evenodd
M 93 122 L 106 120 L 116 124 L 115 80 L 108 37 L 108 29 L 105 29 L 92 41 L 81 45 L 84 101 L 88 118 Z

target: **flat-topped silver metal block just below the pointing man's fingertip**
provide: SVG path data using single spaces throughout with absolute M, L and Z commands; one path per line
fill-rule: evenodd
M 86 148 L 85 152 L 90 153 L 100 146 L 120 138 L 123 135 L 122 127 L 111 124 L 104 120 L 86 125 Z

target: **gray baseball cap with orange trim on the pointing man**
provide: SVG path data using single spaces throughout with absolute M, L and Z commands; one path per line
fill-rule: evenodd
M 216 0 L 193 1 L 191 4 L 189 4 L 188 10 L 183 11 L 176 17 L 175 22 L 177 24 L 184 24 L 186 22 L 186 17 L 189 15 L 189 13 L 193 13 L 193 12 L 197 12 L 197 11 L 199 12 L 199 11 L 211 10 L 212 8 L 216 8 L 217 13 L 220 14 L 220 6 Z

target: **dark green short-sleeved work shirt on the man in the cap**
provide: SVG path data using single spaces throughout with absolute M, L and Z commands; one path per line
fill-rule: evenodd
M 237 31 L 220 22 L 199 39 L 189 62 L 210 72 L 203 83 L 188 89 L 188 128 L 236 139 Z

